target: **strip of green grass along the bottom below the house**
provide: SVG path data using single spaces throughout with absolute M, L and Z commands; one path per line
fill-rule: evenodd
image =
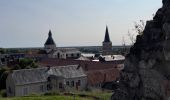
M 52 96 L 42 96 L 42 95 L 32 95 L 24 97 L 0 97 L 0 100 L 110 100 L 112 92 L 103 92 L 103 91 L 83 91 L 83 92 L 74 92 L 73 95 L 52 95 Z M 75 98 L 75 99 L 74 99 Z

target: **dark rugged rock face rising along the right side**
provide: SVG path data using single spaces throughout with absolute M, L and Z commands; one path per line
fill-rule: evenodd
M 112 100 L 167 100 L 164 82 L 170 80 L 170 0 L 162 3 L 126 56 Z

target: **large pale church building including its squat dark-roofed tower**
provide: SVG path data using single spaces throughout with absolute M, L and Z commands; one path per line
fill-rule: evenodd
M 81 52 L 76 48 L 64 48 L 57 47 L 52 37 L 52 32 L 49 30 L 48 38 L 44 43 L 44 48 L 32 51 L 26 54 L 26 58 L 33 58 L 37 60 L 46 58 L 57 58 L 57 59 L 77 59 L 81 56 Z

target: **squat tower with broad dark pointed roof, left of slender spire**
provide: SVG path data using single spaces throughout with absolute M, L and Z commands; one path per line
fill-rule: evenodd
M 44 48 L 45 49 L 55 49 L 56 48 L 56 44 L 55 44 L 55 42 L 54 42 L 54 40 L 52 38 L 51 30 L 49 30 L 48 39 L 44 44 Z

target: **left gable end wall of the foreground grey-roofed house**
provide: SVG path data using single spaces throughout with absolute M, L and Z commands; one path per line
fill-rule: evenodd
M 11 74 L 9 74 L 6 79 L 6 91 L 7 91 L 7 96 L 9 97 L 15 96 L 15 85 Z

